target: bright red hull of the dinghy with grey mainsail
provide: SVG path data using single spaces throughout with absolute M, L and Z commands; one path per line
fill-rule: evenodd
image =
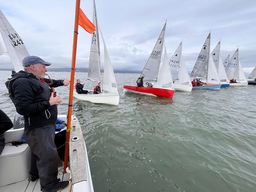
M 169 89 L 137 87 L 137 86 L 129 86 L 129 85 L 124 85 L 124 89 L 136 91 L 140 93 L 153 94 L 153 95 L 156 95 L 157 97 L 167 97 L 167 98 L 172 98 L 175 93 L 174 90 L 169 90 Z

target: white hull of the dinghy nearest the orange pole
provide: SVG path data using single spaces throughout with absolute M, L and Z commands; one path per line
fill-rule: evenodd
M 119 103 L 119 93 L 102 92 L 99 94 L 78 94 L 77 92 L 74 92 L 74 97 L 92 103 L 107 105 L 118 105 Z

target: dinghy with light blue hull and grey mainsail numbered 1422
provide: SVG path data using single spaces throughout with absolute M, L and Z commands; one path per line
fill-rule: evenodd
M 210 53 L 211 32 L 207 36 L 196 64 L 191 72 L 191 77 L 199 78 L 206 83 L 202 86 L 193 86 L 193 89 L 220 89 L 220 78 L 215 68 L 212 54 Z

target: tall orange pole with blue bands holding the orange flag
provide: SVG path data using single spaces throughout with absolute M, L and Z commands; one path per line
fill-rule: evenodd
M 74 78 L 75 78 L 75 67 L 76 67 L 76 45 L 78 36 L 78 21 L 79 21 L 79 10 L 80 0 L 76 0 L 76 14 L 75 14 L 75 27 L 73 37 L 73 50 L 72 50 L 72 61 L 71 61 L 71 72 L 70 72 L 70 88 L 69 88 L 69 100 L 68 100 L 68 123 L 66 131 L 66 143 L 65 143 L 65 158 L 64 158 L 64 173 L 68 167 L 68 153 L 69 153 L 69 137 L 71 127 L 71 115 L 73 106 L 73 90 L 74 90 Z

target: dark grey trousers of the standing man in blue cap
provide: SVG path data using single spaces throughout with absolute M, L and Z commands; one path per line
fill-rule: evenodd
M 36 129 L 24 130 L 31 151 L 38 157 L 34 157 L 34 161 L 36 159 L 41 188 L 44 189 L 52 187 L 58 175 L 59 156 L 54 144 L 55 126 L 55 123 L 52 123 Z

